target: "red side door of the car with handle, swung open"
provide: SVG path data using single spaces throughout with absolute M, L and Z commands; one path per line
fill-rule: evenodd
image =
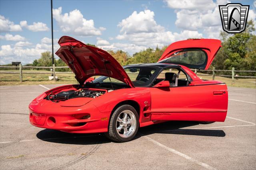
M 151 120 L 224 121 L 226 84 L 150 88 Z

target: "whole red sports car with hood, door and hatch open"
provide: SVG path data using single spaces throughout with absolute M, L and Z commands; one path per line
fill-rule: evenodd
M 63 36 L 58 43 L 56 55 L 79 84 L 57 87 L 34 99 L 29 110 L 30 123 L 36 127 L 104 132 L 111 140 L 126 142 L 139 127 L 164 121 L 225 121 L 226 84 L 202 80 L 189 69 L 208 69 L 220 40 L 175 42 L 158 63 L 124 67 L 108 52 L 74 38 Z

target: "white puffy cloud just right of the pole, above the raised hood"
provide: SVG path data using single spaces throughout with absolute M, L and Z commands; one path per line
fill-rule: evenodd
M 79 10 L 62 14 L 62 7 L 53 9 L 53 18 L 57 21 L 62 32 L 78 36 L 99 36 L 104 27 L 95 28 L 93 20 L 86 20 Z

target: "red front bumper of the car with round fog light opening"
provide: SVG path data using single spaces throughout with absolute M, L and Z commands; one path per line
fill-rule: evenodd
M 30 123 L 35 127 L 70 133 L 108 132 L 110 113 L 102 113 L 94 105 L 87 104 L 86 108 L 60 106 L 59 109 L 43 109 L 38 105 L 30 105 L 29 111 Z M 84 114 L 90 115 L 90 117 L 87 119 L 76 118 L 77 115 Z

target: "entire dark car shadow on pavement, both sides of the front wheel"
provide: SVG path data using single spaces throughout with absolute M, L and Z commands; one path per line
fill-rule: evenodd
M 196 136 L 226 136 L 223 130 L 206 130 L 206 129 L 186 129 L 199 125 L 198 122 L 192 121 L 169 121 L 148 127 L 139 128 L 137 135 L 134 139 L 146 136 L 149 134 L 182 134 L 182 135 L 196 135 Z M 44 129 L 36 134 L 40 140 L 62 144 L 99 144 L 112 142 L 104 134 L 76 134 L 61 132 L 58 130 Z

